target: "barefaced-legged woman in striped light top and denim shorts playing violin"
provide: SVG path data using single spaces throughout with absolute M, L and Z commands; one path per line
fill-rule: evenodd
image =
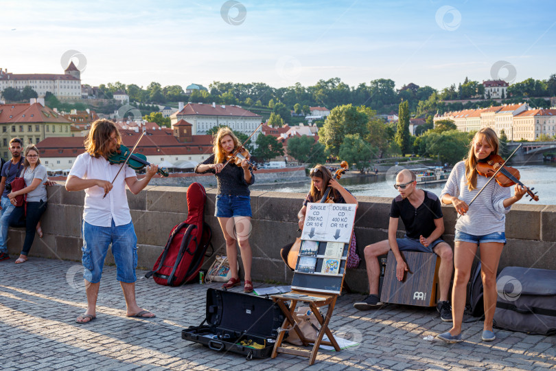
M 471 267 L 480 248 L 481 278 L 484 287 L 485 323 L 483 341 L 492 341 L 492 321 L 496 310 L 496 271 L 502 248 L 506 243 L 505 222 L 511 205 L 522 199 L 527 189 L 516 184 L 513 196 L 510 189 L 502 187 L 494 179 L 487 184 L 487 177 L 478 175 L 478 164 L 498 155 L 498 137 L 491 128 L 483 128 L 476 133 L 470 150 L 463 161 L 454 166 L 448 182 L 441 193 L 441 201 L 454 205 L 460 214 L 456 222 L 454 238 L 454 286 L 452 287 L 452 319 L 450 331 L 437 337 L 449 343 L 462 341 L 461 322 L 465 308 L 467 282 Z M 485 186 L 487 184 L 487 186 Z M 480 192 L 485 186 L 485 188 Z M 478 196 L 477 196 L 478 194 Z M 473 205 L 472 199 L 476 196 Z

